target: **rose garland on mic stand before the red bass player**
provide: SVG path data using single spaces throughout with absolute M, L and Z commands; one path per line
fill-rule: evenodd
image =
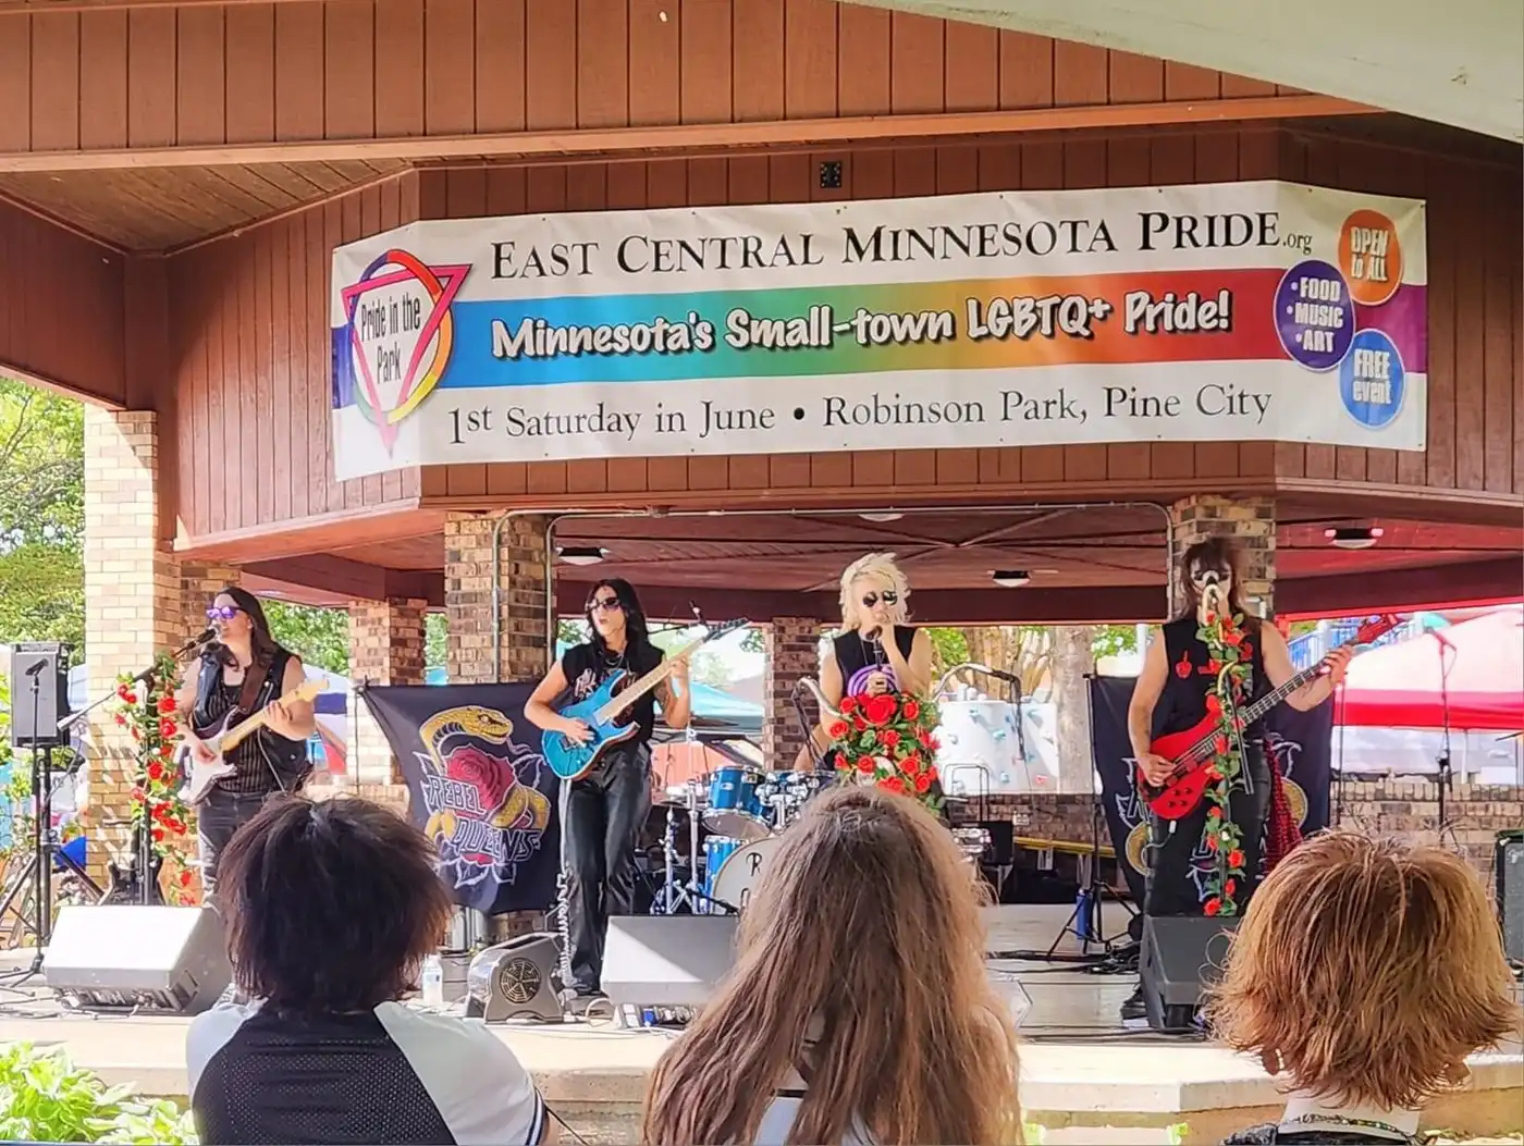
M 1253 645 L 1244 632 L 1244 617 L 1207 610 L 1196 637 L 1207 646 L 1210 660 L 1207 669 L 1216 675 L 1212 692 L 1207 693 L 1207 715 L 1222 721 L 1224 713 L 1237 722 L 1237 709 L 1247 699 L 1250 687 Z M 1231 735 L 1230 735 L 1231 731 Z M 1233 785 L 1244 771 L 1241 751 L 1242 730 L 1222 730 L 1212 741 L 1212 757 L 1207 762 L 1207 826 L 1202 841 L 1218 861 L 1207 876 L 1207 901 L 1202 911 L 1209 916 L 1236 916 L 1239 913 L 1239 882 L 1244 879 L 1244 832 L 1233 821 L 1230 797 Z

